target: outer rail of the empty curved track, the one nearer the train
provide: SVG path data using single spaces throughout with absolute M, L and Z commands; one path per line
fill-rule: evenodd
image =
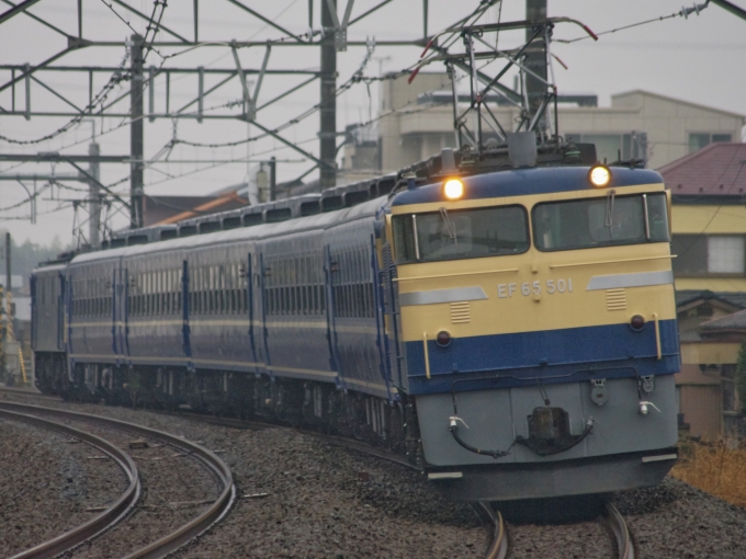
M 205 512 L 193 518 L 191 522 L 182 525 L 171 534 L 127 555 L 125 559 L 155 559 L 165 557 L 176 551 L 200 534 L 204 533 L 213 524 L 219 522 L 228 513 L 236 500 L 236 486 L 234 484 L 233 474 L 230 472 L 228 465 L 218 458 L 214 453 L 195 443 L 190 443 L 189 441 L 169 433 L 165 433 L 162 431 L 144 427 L 135 423 L 127 423 L 125 421 L 103 418 L 101 415 L 92 415 L 89 413 L 65 411 L 54 408 L 43 408 L 38 406 L 15 402 L 0 402 L 0 410 L 3 408 L 22 410 L 26 413 L 41 413 L 59 417 L 68 420 L 94 422 L 106 425 L 111 429 L 136 433 L 137 435 L 145 438 L 158 440 L 180 449 L 193 458 L 196 458 L 217 476 L 217 478 L 223 483 L 223 491 L 221 492 L 221 495 L 217 498 L 217 500 Z

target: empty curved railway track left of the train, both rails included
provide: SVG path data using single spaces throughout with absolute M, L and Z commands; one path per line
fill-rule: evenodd
M 179 453 L 189 455 L 192 458 L 199 460 L 203 466 L 205 466 L 222 483 L 223 489 L 215 502 L 207 507 L 205 511 L 203 511 L 199 516 L 194 517 L 192 521 L 190 521 L 187 524 L 181 525 L 178 529 L 171 532 L 165 537 L 161 537 L 157 539 L 156 541 L 152 541 L 151 544 L 137 549 L 126 556 L 126 559 L 135 559 L 135 558 L 146 558 L 146 559 L 152 559 L 152 558 L 159 558 L 159 557 L 165 557 L 168 554 L 176 551 L 180 547 L 184 546 L 187 543 L 189 543 L 191 539 L 194 537 L 199 536 L 200 534 L 204 533 L 210 526 L 222 520 L 225 514 L 229 511 L 230 506 L 233 505 L 235 499 L 236 499 L 236 488 L 233 482 L 233 475 L 230 472 L 230 469 L 228 466 L 221 460 L 215 454 L 212 452 L 207 450 L 206 448 L 194 444 L 190 443 L 189 441 L 185 441 L 181 437 L 171 435 L 169 433 L 165 433 L 162 431 L 157 431 L 157 430 L 151 430 L 147 429 L 134 423 L 127 423 L 124 421 L 118 421 L 118 420 L 113 420 L 109 418 L 102 418 L 99 415 L 91 415 L 87 413 L 79 413 L 79 412 L 71 412 L 71 411 L 65 411 L 56 408 L 44 408 L 44 407 L 38 407 L 38 406 L 31 406 L 31 404 L 25 404 L 25 403 L 16 403 L 16 402 L 0 402 L 0 413 L 3 413 L 4 417 L 15 417 L 19 418 L 20 415 L 30 418 L 27 421 L 37 421 L 41 424 L 42 422 L 45 422 L 46 424 L 49 424 L 52 426 L 53 423 L 55 422 L 48 422 L 44 420 L 44 417 L 53 417 L 66 421 L 83 421 L 88 423 L 93 423 L 98 425 L 104 425 L 108 429 L 114 429 L 118 431 L 124 431 L 127 433 L 134 433 L 139 437 L 149 440 L 149 441 L 159 441 L 162 444 L 168 445 L 169 447 L 172 447 L 177 449 Z M 100 437 L 94 437 L 94 435 L 89 435 L 84 432 L 80 432 L 78 430 L 72 430 L 72 427 L 68 427 L 66 425 L 60 425 L 61 427 L 65 427 L 68 431 L 69 436 L 72 436 L 75 438 L 80 438 L 82 441 L 88 442 L 89 437 L 93 437 L 94 440 L 100 440 Z M 72 434 L 72 433 L 76 434 Z M 93 440 L 91 438 L 91 441 Z M 101 440 L 102 441 L 102 440 Z M 105 441 L 102 441 L 102 443 L 105 443 Z M 89 443 L 90 444 L 90 443 Z M 103 449 L 103 448 L 102 448 Z M 110 445 L 110 452 L 114 453 L 117 452 L 118 455 L 123 460 L 129 460 L 132 466 L 134 467 L 134 461 L 129 456 L 126 454 L 122 453 L 121 449 L 117 447 Z M 134 469 L 135 472 L 137 472 L 137 469 L 135 467 Z M 139 478 L 135 478 L 137 480 L 137 488 L 139 488 Z M 139 495 L 139 490 L 137 491 L 137 495 Z M 136 501 L 135 499 L 134 501 Z M 134 502 L 133 502 L 134 504 Z M 111 516 L 111 514 L 108 515 L 108 512 L 104 512 L 101 516 Z M 116 516 L 117 518 L 122 517 L 122 514 Z M 99 517 L 97 517 L 99 518 Z M 97 520 L 94 518 L 94 521 Z M 24 554 L 31 554 L 31 555 L 20 555 L 18 556 L 23 557 L 23 558 L 43 558 L 43 557 L 54 557 L 58 555 L 61 551 L 65 551 L 66 549 L 70 549 L 72 547 L 79 546 L 83 541 L 90 540 L 94 535 L 101 534 L 103 529 L 106 527 L 111 527 L 111 523 L 106 525 L 100 525 L 99 529 L 95 532 L 91 532 L 91 528 L 88 527 L 87 523 L 83 526 L 80 526 L 79 528 L 76 528 L 75 532 L 79 532 L 81 534 L 80 537 L 78 537 L 75 543 L 71 540 L 68 541 L 67 544 L 64 543 L 57 543 L 56 539 L 43 544 L 42 546 L 36 546 L 35 548 L 24 551 Z M 63 537 L 63 536 L 60 536 Z M 53 544 L 54 543 L 54 544 Z M 63 547 L 67 545 L 67 547 Z M 47 547 L 49 550 L 47 551 Z M 37 550 L 37 551 L 35 551 Z M 32 554 L 33 551 L 33 554 Z M 54 552 L 53 552 L 54 551 Z

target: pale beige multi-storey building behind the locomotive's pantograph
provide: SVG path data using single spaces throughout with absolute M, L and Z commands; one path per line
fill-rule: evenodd
M 450 88 L 444 73 L 420 72 L 411 84 L 406 76 L 383 81 L 378 169 L 365 171 L 396 171 L 444 147 L 455 147 Z M 561 135 L 596 144 L 600 161 L 615 161 L 620 155 L 622 159 L 644 158 L 652 169 L 711 142 L 739 141 L 746 124 L 744 115 L 646 91 L 613 95 L 609 107 L 597 106 L 595 95 L 564 99 L 570 102 L 560 104 Z M 510 124 L 519 116 L 518 109 L 493 103 L 490 110 L 510 132 Z M 483 129 L 489 130 L 486 124 Z M 355 158 L 360 147 L 354 142 L 346 147 L 344 169 L 362 171 L 362 166 L 370 166 L 376 158 L 370 155 L 370 142 L 365 149 L 365 158 Z

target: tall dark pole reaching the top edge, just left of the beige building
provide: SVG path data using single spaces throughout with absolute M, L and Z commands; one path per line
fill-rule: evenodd
M 320 187 L 329 189 L 337 184 L 337 49 L 335 47 L 335 34 L 331 28 L 335 26 L 329 3 L 337 10 L 337 0 L 331 2 L 319 2 L 321 4 L 321 27 L 325 35 L 321 39 L 321 110 L 320 132 L 318 137 L 321 144 L 319 159 L 320 166 Z

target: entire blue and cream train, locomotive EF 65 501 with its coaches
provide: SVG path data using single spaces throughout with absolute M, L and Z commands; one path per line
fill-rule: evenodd
M 660 175 L 572 144 L 456 156 L 37 269 L 37 386 L 364 437 L 454 500 L 657 483 L 679 369 Z

